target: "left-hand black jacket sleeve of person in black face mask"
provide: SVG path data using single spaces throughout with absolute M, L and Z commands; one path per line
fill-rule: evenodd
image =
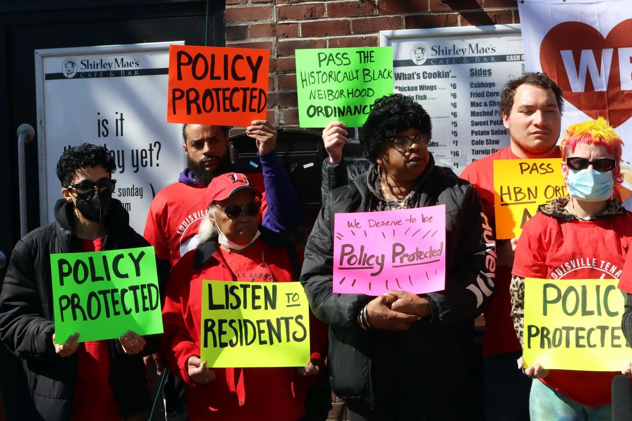
M 0 340 L 23 359 L 56 357 L 52 343 L 54 324 L 42 315 L 35 276 L 38 270 L 51 268 L 35 266 L 33 252 L 23 240 L 18 241 L 0 294 Z

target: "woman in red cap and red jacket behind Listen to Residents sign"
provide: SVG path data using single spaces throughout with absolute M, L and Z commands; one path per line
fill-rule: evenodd
M 200 361 L 203 280 L 291 282 L 300 275 L 300 248 L 257 223 L 261 196 L 243 174 L 215 177 L 207 187 L 200 244 L 167 282 L 162 357 L 185 381 L 191 420 L 298 420 L 310 377 L 322 371 L 326 330 L 315 323 L 312 350 L 318 343 L 320 352 L 312 351 L 305 367 L 209 369 Z

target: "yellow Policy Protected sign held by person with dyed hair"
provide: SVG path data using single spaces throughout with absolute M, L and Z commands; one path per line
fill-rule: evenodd
M 625 299 L 617 279 L 525 279 L 526 365 L 621 371 L 632 349 L 621 330 Z

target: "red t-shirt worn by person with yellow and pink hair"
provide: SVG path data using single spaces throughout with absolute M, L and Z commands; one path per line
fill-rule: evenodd
M 512 273 L 540 279 L 617 279 L 632 242 L 632 213 L 594 221 L 538 212 L 523 227 Z M 623 367 L 622 367 L 623 368 Z M 551 370 L 542 382 L 582 405 L 611 402 L 618 372 Z

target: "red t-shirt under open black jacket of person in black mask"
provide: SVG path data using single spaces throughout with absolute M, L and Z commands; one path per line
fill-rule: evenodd
M 81 239 L 83 251 L 102 251 L 103 239 Z M 73 420 L 119 421 L 119 405 L 110 378 L 107 341 L 79 344 Z

